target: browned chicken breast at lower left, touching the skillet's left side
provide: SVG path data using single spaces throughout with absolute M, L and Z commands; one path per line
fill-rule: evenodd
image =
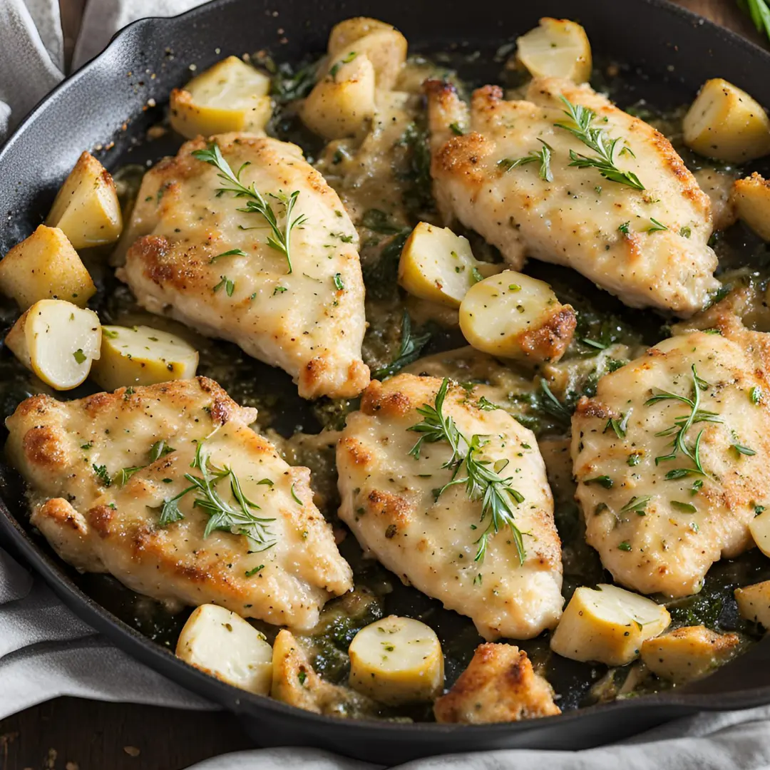
M 212 380 L 23 401 L 8 457 L 32 524 L 69 564 L 139 594 L 313 628 L 352 587 L 310 471 L 281 460 Z

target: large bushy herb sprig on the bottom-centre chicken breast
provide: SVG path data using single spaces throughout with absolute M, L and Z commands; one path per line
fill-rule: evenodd
M 423 421 L 407 430 L 421 435 L 409 454 L 419 460 L 423 444 L 447 441 L 452 454 L 442 467 L 450 469 L 452 477 L 447 484 L 434 492 L 436 499 L 438 500 L 449 487 L 464 484 L 470 500 L 481 503 L 480 521 L 488 520 L 484 532 L 475 541 L 478 545 L 475 561 L 484 561 L 490 537 L 508 527 L 514 538 L 519 561 L 524 564 L 527 555 L 524 550 L 524 537 L 514 522 L 514 503 L 524 502 L 524 496 L 512 486 L 513 477 L 500 475 L 507 467 L 508 460 L 498 460 L 496 463 L 484 460 L 481 455 L 488 443 L 484 437 L 474 434 L 468 440 L 460 433 L 452 417 L 444 414 L 444 400 L 448 389 L 449 380 L 445 377 L 433 405 L 425 403 L 417 409 Z M 464 477 L 460 476 L 462 468 L 465 469 Z

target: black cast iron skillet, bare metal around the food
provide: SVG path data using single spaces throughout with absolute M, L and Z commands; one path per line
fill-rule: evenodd
M 574 18 L 587 28 L 594 52 L 630 66 L 628 89 L 656 106 L 686 102 L 715 76 L 770 105 L 770 55 L 664 0 L 507 2 L 487 5 L 484 12 L 459 0 L 281 0 L 275 6 L 265 0 L 215 0 L 176 18 L 149 18 L 126 28 L 55 89 L 0 149 L 0 253 L 42 221 L 83 149 L 109 148 L 101 157 L 110 169 L 168 152 L 162 142 L 139 146 L 162 116 L 162 108 L 148 108 L 148 102 L 162 105 L 172 87 L 189 79 L 190 64 L 204 69 L 226 55 L 262 48 L 272 49 L 280 61 L 299 59 L 322 52 L 331 26 L 356 15 L 397 25 L 412 51 L 459 46 L 480 50 L 481 62 L 541 15 Z M 770 702 L 770 642 L 765 641 L 687 688 L 511 725 L 405 725 L 313 715 L 231 688 L 129 628 L 86 596 L 52 551 L 22 527 L 26 512 L 9 487 L 0 487 L 0 498 L 4 540 L 69 608 L 142 663 L 233 711 L 259 745 L 317 746 L 387 764 L 480 748 L 577 749 L 703 709 Z

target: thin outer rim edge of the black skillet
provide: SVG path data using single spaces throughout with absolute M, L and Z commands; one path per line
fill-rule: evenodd
M 32 109 L 22 123 L 15 129 L 12 136 L 8 138 L 3 146 L 0 146 L 0 168 L 2 168 L 2 162 L 5 156 L 12 150 L 15 140 L 25 132 L 28 125 L 35 122 L 39 117 L 45 113 L 45 109 L 52 99 L 55 99 L 59 92 L 67 89 L 72 82 L 89 76 L 89 72 L 92 69 L 99 67 L 102 59 L 105 59 L 105 53 L 112 52 L 113 49 L 122 45 L 123 39 L 129 37 L 130 34 L 136 32 L 136 29 L 141 30 L 145 26 L 149 25 L 166 25 L 169 27 L 169 32 L 182 25 L 182 28 L 190 22 L 194 22 L 198 15 L 204 15 L 211 12 L 216 8 L 223 8 L 226 5 L 239 2 L 239 0 L 210 0 L 210 2 L 204 5 L 199 5 L 196 8 L 192 8 L 187 12 L 176 16 L 170 17 L 149 17 L 139 19 L 132 24 L 127 25 L 125 28 L 119 30 L 119 32 L 113 35 L 112 39 L 99 55 L 96 55 L 94 59 L 86 62 L 80 69 L 65 78 L 59 85 L 53 89 L 48 95 L 39 102 L 38 105 Z M 731 32 L 720 25 L 716 25 L 714 22 L 708 19 L 702 18 L 694 12 L 688 11 L 681 6 L 674 5 L 668 0 L 638 0 L 642 5 L 647 5 L 650 8 L 658 9 L 660 12 L 667 12 L 669 14 L 675 14 L 681 16 L 685 20 L 695 25 L 705 25 L 710 28 L 712 35 L 721 37 L 725 43 L 731 46 L 737 46 L 738 48 L 748 48 L 752 50 L 754 55 L 760 55 L 764 57 L 770 65 L 770 53 L 762 49 L 754 42 L 743 38 L 735 32 Z M 440 736 L 446 734 L 455 734 L 457 731 L 473 731 L 473 735 L 484 740 L 486 736 L 493 738 L 495 736 L 511 734 L 511 732 L 524 732 L 536 725 L 554 725 L 556 721 L 559 724 L 564 724 L 565 727 L 568 724 L 580 721 L 584 718 L 590 718 L 592 715 L 598 715 L 600 712 L 611 711 L 613 713 L 626 712 L 633 713 L 634 711 L 648 711 L 658 707 L 674 708 L 681 713 L 681 715 L 688 715 L 695 711 L 715 711 L 721 709 L 743 709 L 754 708 L 759 705 L 765 705 L 770 702 L 770 685 L 766 685 L 759 688 L 748 688 L 737 691 L 726 691 L 719 694 L 689 694 L 686 688 L 680 690 L 669 690 L 652 695 L 642 695 L 637 698 L 631 698 L 628 700 L 613 701 L 607 704 L 589 706 L 587 708 L 577 709 L 575 711 L 567 711 L 567 713 L 557 716 L 551 716 L 531 721 L 520 721 L 514 723 L 502 723 L 497 725 L 439 725 L 433 722 L 415 722 L 411 724 L 393 723 L 388 721 L 379 721 L 372 719 L 356 719 L 346 720 L 343 723 L 339 718 L 326 717 L 323 715 L 316 715 L 310 711 L 303 711 L 300 708 L 295 708 L 290 705 L 275 701 L 273 698 L 269 698 L 261 695 L 253 695 L 249 692 L 239 690 L 231 685 L 226 685 L 224 682 L 219 681 L 209 675 L 204 674 L 196 668 L 179 660 L 168 649 L 162 647 L 162 645 L 150 640 L 139 631 L 132 628 L 128 624 L 119 620 L 112 613 L 107 611 L 102 605 L 95 602 L 87 594 L 81 591 L 77 585 L 75 585 L 69 577 L 62 572 L 62 567 L 55 557 L 50 557 L 45 554 L 38 544 L 30 537 L 30 535 L 19 524 L 18 519 L 12 514 L 5 504 L 5 500 L 0 498 L 0 530 L 2 530 L 7 537 L 10 538 L 12 547 L 20 554 L 23 559 L 30 565 L 34 571 L 41 575 L 49 587 L 52 588 L 55 594 L 62 599 L 62 601 L 83 621 L 88 623 L 98 631 L 100 634 L 104 634 L 106 638 L 109 638 L 115 643 L 115 645 L 131 655 L 132 658 L 142 662 L 144 665 L 148 665 L 154 671 L 161 675 L 175 681 L 177 685 L 188 689 L 196 695 L 200 695 L 203 698 L 208 698 L 224 708 L 233 711 L 236 714 L 259 714 L 259 711 L 275 711 L 278 715 L 285 715 L 288 718 L 296 718 L 300 721 L 315 722 L 316 725 L 326 725 L 330 728 L 339 727 L 344 724 L 346 731 L 367 733 L 373 729 L 384 734 L 383 737 L 387 738 L 387 735 L 392 735 L 393 738 L 403 736 L 404 731 L 412 733 L 419 731 L 420 733 L 427 732 L 429 735 Z M 23 515 L 23 514 L 22 514 Z M 770 644 L 770 640 L 763 640 L 758 645 L 767 646 Z M 758 646 L 757 645 L 757 646 Z M 738 662 L 740 658 L 736 659 Z M 723 670 L 728 670 L 734 664 L 728 664 Z M 361 735 L 363 738 L 363 735 Z M 354 735 L 350 735 L 350 738 L 354 739 Z

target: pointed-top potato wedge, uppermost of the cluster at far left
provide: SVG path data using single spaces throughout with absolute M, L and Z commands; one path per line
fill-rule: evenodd
M 123 218 L 115 182 L 90 152 L 83 152 L 69 172 L 45 224 L 62 230 L 75 249 L 119 239 Z

